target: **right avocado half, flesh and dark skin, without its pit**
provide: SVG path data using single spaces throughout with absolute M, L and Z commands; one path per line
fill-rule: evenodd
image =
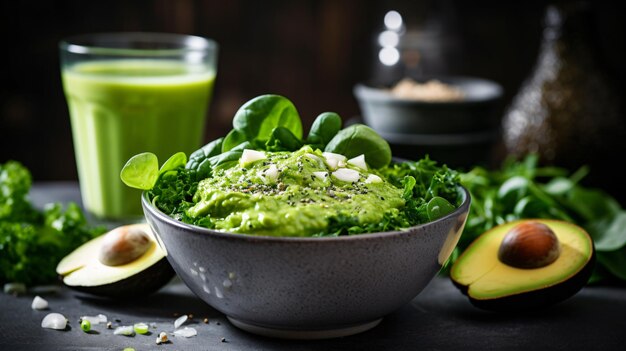
M 516 268 L 499 258 L 505 236 L 528 222 L 548 226 L 558 238 L 560 254 L 538 268 Z M 576 294 L 589 280 L 595 249 L 589 234 L 568 222 L 548 219 L 513 221 L 479 236 L 457 259 L 452 282 L 479 308 L 520 311 L 544 308 Z

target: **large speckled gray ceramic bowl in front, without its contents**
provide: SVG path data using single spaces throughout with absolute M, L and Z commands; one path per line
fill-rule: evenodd
M 179 222 L 144 193 L 148 223 L 169 262 L 237 327 L 283 338 L 345 336 L 376 326 L 432 280 L 456 246 L 470 197 L 405 231 L 333 238 L 230 234 Z

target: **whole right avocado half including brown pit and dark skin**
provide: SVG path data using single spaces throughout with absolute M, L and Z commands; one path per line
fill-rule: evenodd
M 552 219 L 498 225 L 476 238 L 450 268 L 470 302 L 500 312 L 549 307 L 589 280 L 595 249 L 581 227 Z

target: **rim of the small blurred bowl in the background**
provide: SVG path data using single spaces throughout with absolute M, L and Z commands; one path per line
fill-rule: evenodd
M 465 82 L 473 84 L 482 84 L 488 86 L 492 91 L 484 97 L 472 97 L 462 100 L 442 100 L 442 101 L 425 101 L 418 99 L 400 98 L 395 95 L 384 91 L 381 88 L 374 87 L 367 83 L 357 83 L 354 85 L 354 96 L 363 102 L 376 102 L 382 104 L 400 104 L 400 105 L 417 105 L 417 106 L 461 106 L 461 105 L 475 105 L 485 104 L 500 100 L 504 95 L 504 89 L 500 84 L 495 81 L 476 78 L 470 76 L 428 76 L 424 77 L 426 80 L 436 79 L 446 84 L 452 84 L 453 82 Z

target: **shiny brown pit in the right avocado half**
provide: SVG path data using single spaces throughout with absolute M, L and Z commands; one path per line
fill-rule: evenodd
M 539 222 L 525 221 L 504 236 L 498 259 L 511 267 L 534 269 L 551 264 L 560 254 L 559 239 L 550 227 Z

